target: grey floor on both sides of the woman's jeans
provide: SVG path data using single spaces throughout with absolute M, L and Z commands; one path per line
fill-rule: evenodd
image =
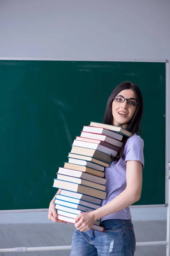
M 136 241 L 166 241 L 166 221 L 133 221 Z M 0 248 L 71 245 L 73 224 L 0 224 Z M 69 256 L 70 250 L 0 253 L 0 256 Z M 136 247 L 135 256 L 166 256 L 166 246 Z

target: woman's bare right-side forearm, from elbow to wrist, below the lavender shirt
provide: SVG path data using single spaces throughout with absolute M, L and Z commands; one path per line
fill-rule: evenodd
M 111 213 L 125 209 L 126 207 L 130 206 L 131 204 L 134 204 L 138 200 L 139 198 L 134 193 L 132 193 L 128 189 L 125 189 L 118 196 L 116 196 L 116 198 L 111 200 L 108 204 L 105 204 L 104 206 L 94 210 L 91 213 L 94 214 L 94 218 L 95 220 L 97 220 Z

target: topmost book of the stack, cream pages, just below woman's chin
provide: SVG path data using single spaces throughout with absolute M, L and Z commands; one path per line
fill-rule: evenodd
M 91 122 L 90 126 L 94 127 L 100 127 L 100 128 L 105 128 L 111 131 L 118 132 L 122 135 L 125 135 L 127 137 L 131 137 L 133 134 L 130 131 L 125 130 L 121 126 L 115 126 L 115 125 L 107 125 L 107 124 L 102 124 L 102 123 L 97 123 L 97 122 Z

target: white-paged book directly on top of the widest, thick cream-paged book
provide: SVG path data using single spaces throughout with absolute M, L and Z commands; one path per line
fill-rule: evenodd
M 62 175 L 62 174 L 59 174 L 59 173 L 57 173 L 57 180 L 65 180 L 65 181 L 81 184 L 83 186 L 88 186 L 88 187 L 91 187 L 91 188 L 94 188 L 94 189 L 103 190 L 103 191 L 105 191 L 105 189 L 106 189 L 106 187 L 102 184 L 95 183 L 95 182 L 92 182 L 92 181 L 89 181 L 89 180 L 83 180 L 83 179 L 77 178 L 77 177 Z

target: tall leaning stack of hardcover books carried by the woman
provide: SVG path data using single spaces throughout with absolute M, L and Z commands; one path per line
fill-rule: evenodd
M 79 213 L 101 207 L 106 198 L 104 169 L 109 167 L 111 155 L 116 157 L 125 136 L 132 134 L 113 125 L 91 122 L 83 126 L 68 153 L 68 163 L 59 167 L 54 179 L 53 186 L 62 189 L 55 198 L 59 220 L 75 223 Z M 102 232 L 104 228 L 99 225 L 100 219 L 92 229 Z

